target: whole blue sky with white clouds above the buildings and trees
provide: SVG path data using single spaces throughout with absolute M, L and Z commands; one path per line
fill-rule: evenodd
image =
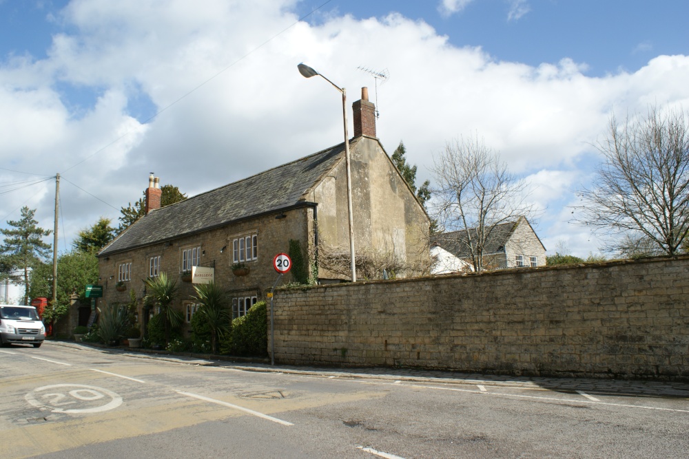
M 154 172 L 195 195 L 342 141 L 338 93 L 369 87 L 417 182 L 483 138 L 531 185 L 548 253 L 602 241 L 571 222 L 611 114 L 689 108 L 680 0 L 0 0 L 0 227 L 22 206 L 59 250 L 118 222 Z M 373 74 L 385 74 L 378 79 Z M 356 215 L 355 215 L 356 220 Z M 356 221 L 355 221 L 356 226 Z

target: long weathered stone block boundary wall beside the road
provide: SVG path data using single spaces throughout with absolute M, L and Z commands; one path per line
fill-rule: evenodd
M 688 256 L 280 290 L 275 306 L 279 363 L 689 379 Z

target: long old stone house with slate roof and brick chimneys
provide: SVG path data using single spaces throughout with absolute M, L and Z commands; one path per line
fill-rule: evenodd
M 365 88 L 353 111 L 358 278 L 375 277 L 382 267 L 396 269 L 398 277 L 427 270 L 429 217 L 376 138 L 375 107 Z M 163 208 L 158 178 L 151 176 L 146 215 L 98 255 L 101 301 L 125 303 L 132 289 L 141 299 L 145 280 L 165 272 L 178 279 L 177 306 L 189 322 L 195 306 L 187 273 L 203 266 L 213 268 L 214 281 L 229 291 L 233 314 L 240 316 L 276 281 L 278 253 L 294 259 L 280 284 L 350 280 L 346 171 L 341 143 Z

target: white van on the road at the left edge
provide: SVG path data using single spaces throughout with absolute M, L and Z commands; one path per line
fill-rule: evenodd
M 45 339 L 45 326 L 33 306 L 0 304 L 0 345 L 33 344 L 40 348 Z

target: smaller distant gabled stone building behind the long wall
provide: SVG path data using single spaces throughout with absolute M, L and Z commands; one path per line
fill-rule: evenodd
M 475 233 L 476 230 L 470 229 L 469 231 Z M 435 235 L 431 245 L 442 248 L 444 254 L 451 253 L 457 259 L 472 264 L 471 249 L 466 231 L 452 231 Z M 443 262 L 444 265 L 449 264 L 446 259 Z M 526 217 L 519 217 L 515 222 L 495 225 L 486 238 L 483 250 L 484 269 L 535 267 L 545 266 L 545 264 L 546 248 L 533 231 Z M 440 268 L 434 266 L 433 273 L 438 274 L 435 271 Z

